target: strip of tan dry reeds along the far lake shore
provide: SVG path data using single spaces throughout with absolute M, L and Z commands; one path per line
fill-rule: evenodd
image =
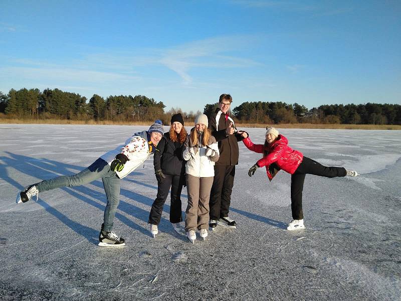
M 110 120 L 68 120 L 68 119 L 5 119 L 0 118 L 0 124 L 88 124 L 88 125 L 149 125 L 149 122 L 135 121 L 110 121 Z M 165 124 L 168 125 L 168 124 Z M 185 123 L 185 125 L 187 125 Z M 315 124 L 315 123 L 280 123 L 280 124 L 261 124 L 261 123 L 240 123 L 240 127 L 266 127 L 274 126 L 277 128 L 321 128 L 321 129 L 388 129 L 401 130 L 401 125 L 395 124 Z

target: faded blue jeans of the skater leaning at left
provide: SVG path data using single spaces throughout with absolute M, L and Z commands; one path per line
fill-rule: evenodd
M 72 176 L 61 176 L 50 180 L 45 180 L 34 184 L 39 192 L 52 190 L 66 186 L 80 186 L 102 178 L 104 191 L 107 197 L 107 205 L 104 210 L 103 230 L 111 231 L 113 228 L 114 216 L 120 202 L 121 182 L 115 172 L 110 170 L 110 166 L 103 159 L 98 159 L 82 172 Z

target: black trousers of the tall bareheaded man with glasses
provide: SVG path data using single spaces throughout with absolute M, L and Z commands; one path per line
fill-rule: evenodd
M 215 165 L 215 178 L 209 201 L 211 220 L 229 216 L 234 177 L 235 165 Z

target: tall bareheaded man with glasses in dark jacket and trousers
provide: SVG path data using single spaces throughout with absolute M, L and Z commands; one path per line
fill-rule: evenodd
M 229 116 L 233 98 L 222 94 L 219 108 L 209 116 L 209 128 L 219 142 L 220 159 L 215 165 L 215 178 L 210 195 L 210 222 L 214 230 L 219 224 L 235 229 L 237 223 L 229 217 L 231 192 L 234 186 L 235 166 L 238 164 L 238 141 L 243 139 L 237 132 L 234 120 Z

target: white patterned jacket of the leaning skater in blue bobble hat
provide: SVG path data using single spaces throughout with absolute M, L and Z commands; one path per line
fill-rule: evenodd
M 113 150 L 110 150 L 100 158 L 111 165 L 111 162 L 113 162 L 118 154 L 127 156 L 128 161 L 125 163 L 122 171 L 116 172 L 118 178 L 122 179 L 145 162 L 145 160 L 151 155 L 149 152 L 149 143 L 146 137 L 146 131 L 135 133 L 125 141 L 124 145 L 120 145 Z

